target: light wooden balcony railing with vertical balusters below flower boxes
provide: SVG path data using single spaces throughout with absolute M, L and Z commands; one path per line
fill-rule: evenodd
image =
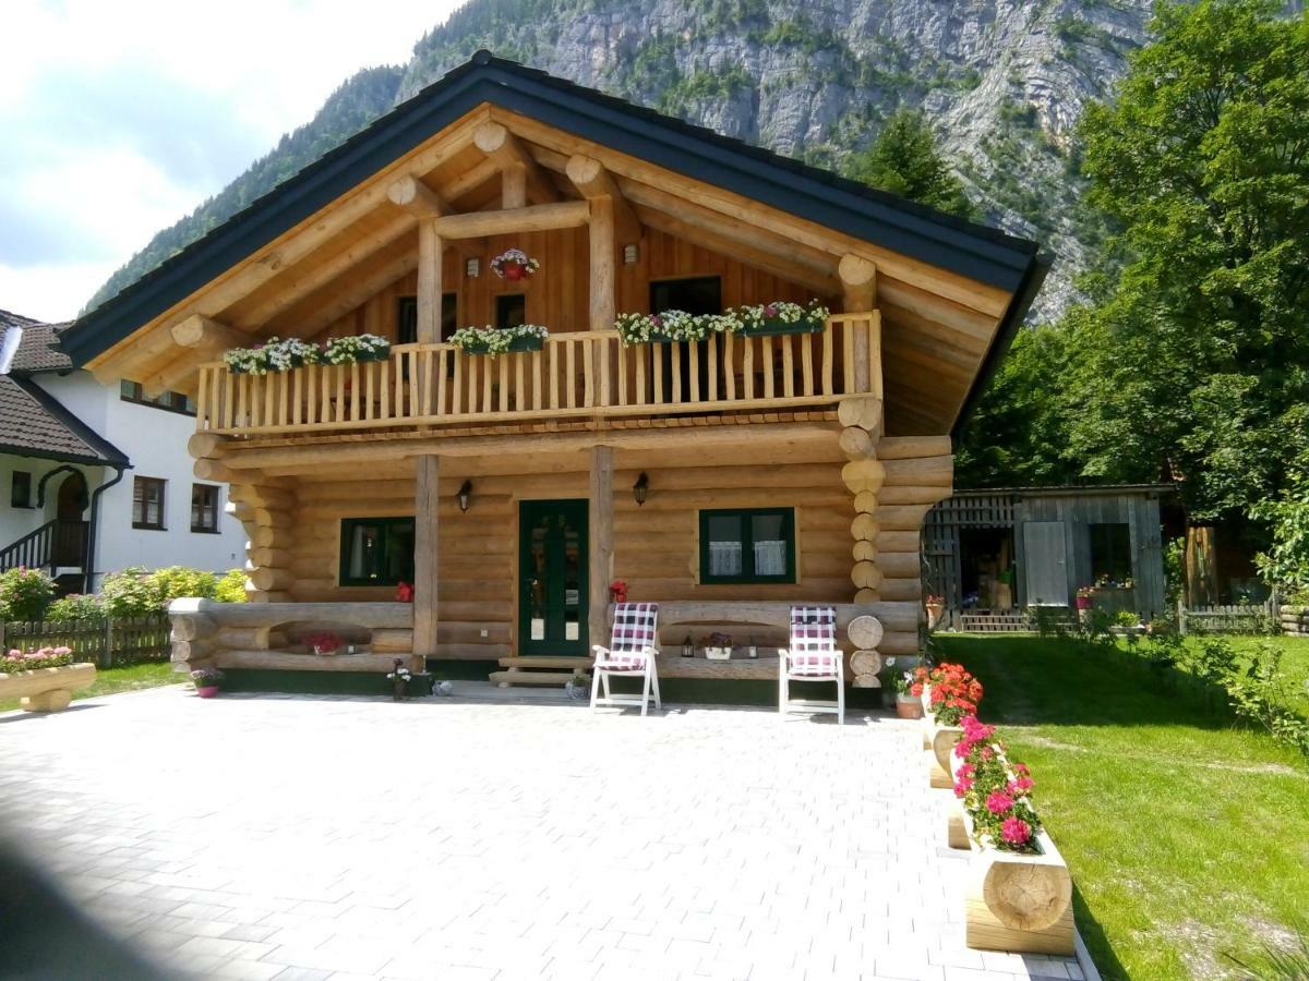
M 267 375 L 200 368 L 196 428 L 225 436 L 569 417 L 830 407 L 881 394 L 878 314 L 821 334 L 624 347 L 617 331 L 551 334 L 542 351 L 487 357 L 402 344 L 385 361 Z

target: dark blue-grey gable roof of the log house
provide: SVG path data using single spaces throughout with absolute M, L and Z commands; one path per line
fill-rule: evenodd
M 62 348 L 77 364 L 103 353 L 483 103 L 1009 292 L 970 400 L 1049 268 L 1033 242 L 479 51 L 81 317 L 60 335 Z

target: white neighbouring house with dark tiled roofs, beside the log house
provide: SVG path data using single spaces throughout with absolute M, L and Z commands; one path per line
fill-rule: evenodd
M 101 385 L 59 351 L 62 327 L 0 310 L 0 570 L 92 591 L 130 565 L 241 565 L 225 488 L 191 473 L 190 400 Z

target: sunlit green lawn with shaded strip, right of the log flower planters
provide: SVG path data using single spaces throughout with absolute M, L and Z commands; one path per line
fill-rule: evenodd
M 936 638 L 986 685 L 982 717 L 1033 768 L 1106 978 L 1224 977 L 1309 929 L 1309 764 L 1121 649 Z M 1240 646 L 1249 647 L 1249 641 Z M 1309 641 L 1287 638 L 1288 668 Z

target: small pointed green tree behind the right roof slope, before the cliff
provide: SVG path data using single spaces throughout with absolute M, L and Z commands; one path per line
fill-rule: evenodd
M 869 187 L 959 217 L 973 216 L 963 183 L 950 171 L 922 112 L 910 109 L 895 112 L 877 139 L 850 158 L 846 173 Z

